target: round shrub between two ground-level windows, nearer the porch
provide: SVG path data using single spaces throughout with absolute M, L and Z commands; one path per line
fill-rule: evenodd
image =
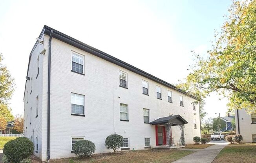
M 124 138 L 121 135 L 113 134 L 109 135 L 105 140 L 105 146 L 107 149 L 115 150 L 119 149 L 123 145 Z

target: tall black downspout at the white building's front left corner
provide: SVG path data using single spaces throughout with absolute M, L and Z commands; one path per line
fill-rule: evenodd
M 49 56 L 48 56 L 48 101 L 47 101 L 47 160 L 50 159 L 50 91 L 51 91 L 51 38 L 53 36 L 53 30 L 51 30 L 49 38 Z

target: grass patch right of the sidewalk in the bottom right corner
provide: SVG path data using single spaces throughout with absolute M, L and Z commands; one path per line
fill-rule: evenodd
M 255 163 L 256 145 L 227 145 L 212 163 Z

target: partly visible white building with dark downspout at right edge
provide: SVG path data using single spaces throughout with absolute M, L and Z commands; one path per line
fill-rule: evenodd
M 256 113 L 247 114 L 245 109 L 235 111 L 236 134 L 243 136 L 243 142 L 256 142 Z

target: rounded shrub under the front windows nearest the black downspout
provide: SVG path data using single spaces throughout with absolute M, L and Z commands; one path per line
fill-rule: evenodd
M 88 157 L 95 152 L 95 144 L 90 140 L 77 141 L 73 146 L 73 152 L 80 157 Z

